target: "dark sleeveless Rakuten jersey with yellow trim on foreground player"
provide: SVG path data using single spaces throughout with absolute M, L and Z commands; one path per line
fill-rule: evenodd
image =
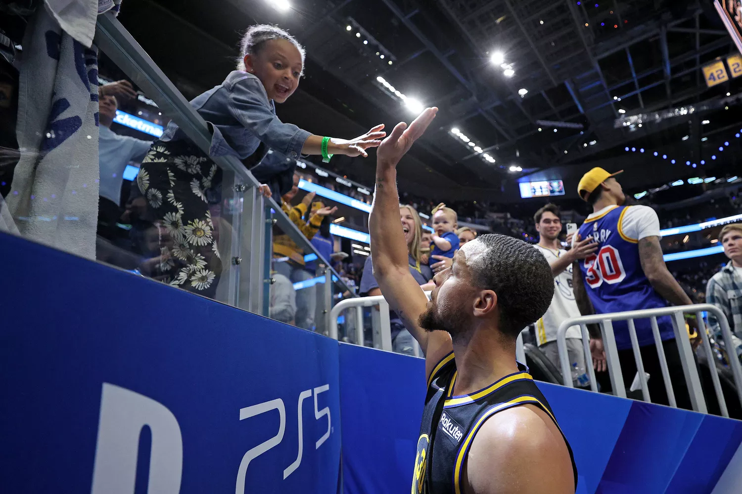
M 453 352 L 433 369 L 428 379 L 420 426 L 412 494 L 462 494 L 464 462 L 474 435 L 495 413 L 533 404 L 548 413 L 557 424 L 546 398 L 528 374 L 528 367 L 518 364 L 518 369 L 517 373 L 506 375 L 483 390 L 461 396 L 452 395 L 456 383 Z M 577 489 L 577 466 L 567 438 L 564 441 Z

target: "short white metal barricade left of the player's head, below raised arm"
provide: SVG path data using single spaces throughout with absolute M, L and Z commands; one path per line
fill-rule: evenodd
M 425 292 L 430 296 L 430 292 Z M 332 307 L 329 313 L 329 337 L 338 339 L 338 317 L 348 309 L 355 309 L 355 344 L 364 345 L 364 307 L 378 307 L 378 326 L 374 328 L 373 346 L 381 350 L 392 350 L 392 331 L 389 319 L 389 304 L 384 296 L 348 298 L 339 301 Z M 416 357 L 423 357 L 422 350 L 417 341 L 413 344 L 413 352 Z

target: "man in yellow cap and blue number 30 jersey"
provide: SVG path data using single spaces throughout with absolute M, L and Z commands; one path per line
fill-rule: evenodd
M 623 171 L 623 170 L 622 170 Z M 593 207 L 578 230 L 578 239 L 591 236 L 598 243 L 597 252 L 573 270 L 574 296 L 582 314 L 617 313 L 626 310 L 691 304 L 680 284 L 665 266 L 660 247 L 660 219 L 648 206 L 626 206 L 626 196 L 615 176 L 603 168 L 585 173 L 577 186 L 583 201 Z M 675 341 L 672 319 L 657 318 L 666 356 L 674 401 L 690 409 L 680 353 Z M 634 321 L 644 371 L 649 373 L 649 395 L 653 403 L 671 404 L 663 381 L 662 368 L 649 319 Z M 628 388 L 637 374 L 626 321 L 614 321 L 619 361 Z M 600 334 L 593 335 L 591 348 L 594 364 L 605 369 L 605 353 Z

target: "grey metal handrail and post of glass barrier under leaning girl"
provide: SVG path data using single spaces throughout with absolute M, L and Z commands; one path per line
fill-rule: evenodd
M 157 104 L 163 115 L 171 117 L 188 139 L 209 154 L 211 133 L 206 121 L 116 20 L 113 13 L 98 16 L 94 42 Z M 243 205 L 235 207 L 232 212 L 229 239 L 231 258 L 229 268 L 223 273 L 226 278 L 223 301 L 234 307 L 268 316 L 273 224 L 295 241 L 305 253 L 315 253 L 318 263 L 324 264 L 326 271 L 329 271 L 328 279 L 334 278 L 340 290 L 352 293 L 332 269 L 332 264 L 318 253 L 283 213 L 280 204 L 273 198 L 265 198 L 258 193 L 257 187 L 260 184 L 240 160 L 234 156 L 211 156 L 211 159 L 223 169 L 223 194 L 231 191 L 234 204 Z M 326 291 L 328 290 L 329 296 L 325 294 L 325 298 L 332 300 L 332 285 L 326 284 Z M 325 316 L 328 315 L 329 311 Z

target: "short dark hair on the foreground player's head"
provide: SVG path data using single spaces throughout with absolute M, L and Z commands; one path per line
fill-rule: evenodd
M 487 233 L 476 240 L 486 250 L 470 264 L 477 287 L 497 294 L 499 330 L 516 338 L 544 315 L 554 297 L 554 276 L 544 255 L 518 238 Z

